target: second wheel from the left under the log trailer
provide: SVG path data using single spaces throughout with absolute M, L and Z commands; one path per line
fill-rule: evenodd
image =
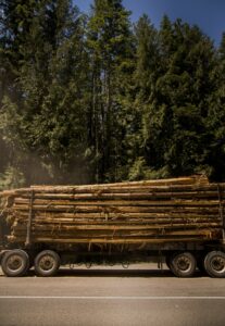
M 35 259 L 35 273 L 38 276 L 53 276 L 60 268 L 60 256 L 55 251 L 43 250 Z

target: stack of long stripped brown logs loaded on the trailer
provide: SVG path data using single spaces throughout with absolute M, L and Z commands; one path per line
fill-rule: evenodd
M 205 177 L 32 186 L 0 192 L 10 242 L 160 243 L 220 240 L 225 184 Z

